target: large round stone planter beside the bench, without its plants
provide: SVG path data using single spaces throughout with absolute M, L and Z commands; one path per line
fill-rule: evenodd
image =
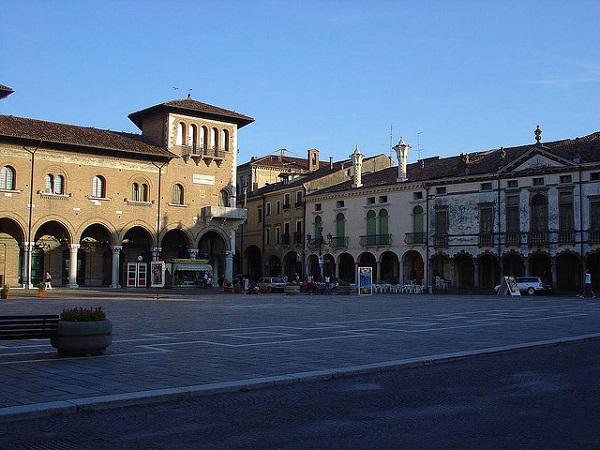
M 56 335 L 50 340 L 60 355 L 101 355 L 112 344 L 112 322 L 59 321 Z

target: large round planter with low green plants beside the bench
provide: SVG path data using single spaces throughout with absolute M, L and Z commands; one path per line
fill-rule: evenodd
M 51 344 L 60 355 L 101 355 L 112 344 L 112 322 L 100 307 L 63 309 Z

